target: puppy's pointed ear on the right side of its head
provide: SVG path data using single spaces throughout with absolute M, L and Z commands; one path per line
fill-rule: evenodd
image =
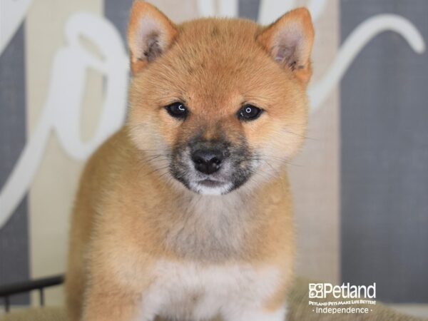
M 257 39 L 277 63 L 290 68 L 302 83 L 309 81 L 314 29 L 307 9 L 287 12 L 267 26 Z

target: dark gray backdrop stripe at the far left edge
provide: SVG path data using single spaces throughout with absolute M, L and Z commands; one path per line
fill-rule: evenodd
M 26 143 L 24 25 L 0 56 L 0 188 Z M 29 278 L 27 198 L 0 229 L 0 285 Z M 16 295 L 14 304 L 28 302 Z M 2 302 L 0 302 L 2 303 Z

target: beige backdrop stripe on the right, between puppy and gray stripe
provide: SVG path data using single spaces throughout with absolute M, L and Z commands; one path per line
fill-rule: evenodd
M 305 1 L 300 1 L 304 4 Z M 325 74 L 339 46 L 339 3 L 327 1 L 315 23 L 314 77 Z M 339 90 L 310 115 L 307 141 L 290 165 L 297 226 L 297 273 L 319 280 L 340 278 Z

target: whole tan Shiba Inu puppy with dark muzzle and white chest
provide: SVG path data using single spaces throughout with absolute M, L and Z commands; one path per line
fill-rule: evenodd
M 306 9 L 175 25 L 133 4 L 128 121 L 73 210 L 71 320 L 285 320 L 313 36 Z

